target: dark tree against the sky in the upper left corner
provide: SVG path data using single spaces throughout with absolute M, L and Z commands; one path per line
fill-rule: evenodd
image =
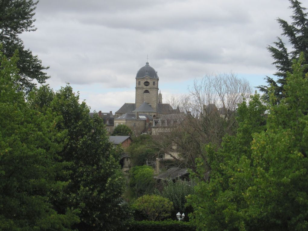
M 48 67 L 42 65 L 37 55 L 33 55 L 30 49 L 25 49 L 19 34 L 26 31 L 35 31 L 33 23 L 34 10 L 39 1 L 33 0 L 2 0 L 0 2 L 0 44 L 7 57 L 12 57 L 18 50 L 17 62 L 18 75 L 16 79 L 20 86 L 18 90 L 29 93 L 35 86 L 32 82 L 36 79 L 39 83 L 45 83 L 49 78 L 44 72 Z

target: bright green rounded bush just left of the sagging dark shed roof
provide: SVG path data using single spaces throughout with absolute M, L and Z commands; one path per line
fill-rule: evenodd
M 154 189 L 154 169 L 150 166 L 135 166 L 130 170 L 129 187 L 134 196 L 152 193 Z

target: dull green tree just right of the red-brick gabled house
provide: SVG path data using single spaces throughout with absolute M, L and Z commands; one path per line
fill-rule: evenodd
M 127 148 L 133 166 L 146 164 L 148 159 L 155 159 L 157 151 L 157 148 L 154 147 L 152 136 L 147 134 L 134 137 Z

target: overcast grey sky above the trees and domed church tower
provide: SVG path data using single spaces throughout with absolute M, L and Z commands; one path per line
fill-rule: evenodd
M 302 6 L 308 7 L 307 0 Z M 233 71 L 252 86 L 275 72 L 266 46 L 290 22 L 287 0 L 40 0 L 21 35 L 58 90 L 70 83 L 91 111 L 135 102 L 136 73 L 158 71 L 163 100 L 194 79 Z M 286 40 L 284 40 L 287 42 Z

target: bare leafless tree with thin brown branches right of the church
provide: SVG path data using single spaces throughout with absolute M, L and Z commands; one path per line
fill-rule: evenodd
M 237 78 L 232 72 L 205 75 L 201 80 L 195 80 L 187 95 L 169 100 L 186 116 L 181 124 L 156 136 L 156 145 L 161 153 L 172 156 L 180 167 L 191 168 L 193 172 L 197 172 L 195 159 L 201 158 L 209 172 L 204 144 L 212 143 L 218 148 L 225 134 L 232 135 L 236 131 L 237 105 L 251 93 L 248 81 Z M 173 155 L 172 144 L 176 144 L 179 156 Z M 208 174 L 202 178 L 208 180 Z

